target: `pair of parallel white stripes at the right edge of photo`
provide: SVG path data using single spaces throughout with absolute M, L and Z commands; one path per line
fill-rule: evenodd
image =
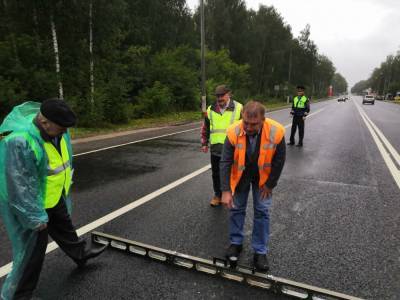
M 358 104 L 356 104 L 355 101 L 353 102 L 354 105 L 357 107 L 358 112 L 360 113 L 362 119 L 364 120 L 365 125 L 367 126 L 369 132 L 371 133 L 372 138 L 375 144 L 377 145 L 378 150 L 381 153 L 382 158 L 386 163 L 386 166 L 388 167 L 390 173 L 392 174 L 394 181 L 396 182 L 398 188 L 400 189 L 400 170 L 396 167 L 395 162 L 390 157 L 390 154 L 392 154 L 393 158 L 397 161 L 398 165 L 400 166 L 400 156 L 398 152 L 394 149 L 394 147 L 390 144 L 387 138 L 383 135 L 382 131 L 380 131 L 379 128 L 371 121 L 371 119 L 367 116 L 367 114 L 363 111 L 363 109 Z M 384 144 L 388 150 L 386 150 Z

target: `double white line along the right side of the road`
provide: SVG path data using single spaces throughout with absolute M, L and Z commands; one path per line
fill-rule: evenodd
M 386 143 L 385 141 L 387 141 L 387 143 L 390 145 L 389 141 L 385 138 L 385 136 L 383 135 L 383 133 L 380 130 L 377 132 L 374 131 L 374 128 L 378 128 L 378 127 L 376 127 L 376 125 L 373 124 L 373 122 L 368 118 L 366 113 L 362 111 L 362 109 L 358 106 L 358 104 L 356 104 L 355 102 L 354 102 L 354 104 L 357 107 L 358 112 L 360 113 L 362 119 L 364 120 L 365 125 L 367 126 L 369 132 L 371 133 L 372 138 L 375 141 L 375 144 L 377 145 L 378 150 L 381 153 L 384 162 L 386 163 L 386 166 L 388 167 L 390 173 L 392 174 L 394 181 L 396 182 L 398 188 L 400 189 L 400 170 L 397 169 L 394 161 L 390 157 L 389 152 L 386 150 L 386 148 L 382 144 L 379 137 L 382 139 L 382 141 L 384 141 L 384 143 Z M 379 137 L 378 137 L 378 135 L 379 135 Z M 388 147 L 388 145 L 386 145 L 386 146 Z M 390 145 L 390 147 L 394 150 L 394 148 L 391 145 Z M 389 149 L 389 147 L 388 147 L 388 149 Z M 396 152 L 396 150 L 394 150 L 394 151 Z M 397 155 L 398 155 L 398 153 L 397 153 Z

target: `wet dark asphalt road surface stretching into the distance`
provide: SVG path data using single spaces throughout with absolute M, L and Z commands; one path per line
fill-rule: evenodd
M 274 191 L 271 274 L 368 299 L 400 298 L 400 193 L 358 104 L 400 152 L 400 106 L 361 97 L 312 106 L 304 147 L 287 149 Z M 288 110 L 269 117 L 287 125 Z M 190 130 L 184 125 L 74 145 L 75 153 Z M 290 128 L 287 129 L 288 139 Z M 199 130 L 75 157 L 77 228 L 206 166 Z M 397 168 L 400 166 L 397 165 Z M 223 256 L 227 211 L 208 205 L 211 171 L 97 228 L 182 253 Z M 245 250 L 250 265 L 249 201 Z M 89 238 L 89 235 L 85 235 Z M 0 225 L 0 268 L 11 260 Z M 0 284 L 4 278 L 0 279 Z M 46 256 L 37 295 L 43 299 L 285 299 L 234 282 L 107 251 L 84 270 L 57 249 Z

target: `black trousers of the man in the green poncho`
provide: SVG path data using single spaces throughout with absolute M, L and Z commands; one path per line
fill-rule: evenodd
M 46 255 L 48 235 L 74 261 L 85 257 L 86 242 L 76 234 L 64 199 L 60 199 L 55 207 L 46 209 L 46 212 L 49 217 L 47 229 L 38 233 L 35 248 L 18 283 L 15 299 L 29 299 L 32 296 Z

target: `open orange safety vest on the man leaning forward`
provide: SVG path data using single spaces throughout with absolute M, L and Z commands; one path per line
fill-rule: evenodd
M 282 141 L 284 136 L 285 128 L 280 123 L 272 119 L 265 119 L 258 157 L 258 170 L 260 173 L 259 187 L 262 187 L 268 180 L 276 146 Z M 243 121 L 238 121 L 231 125 L 228 128 L 227 137 L 232 146 L 235 147 L 230 180 L 231 190 L 234 193 L 246 165 L 246 134 L 243 129 Z

